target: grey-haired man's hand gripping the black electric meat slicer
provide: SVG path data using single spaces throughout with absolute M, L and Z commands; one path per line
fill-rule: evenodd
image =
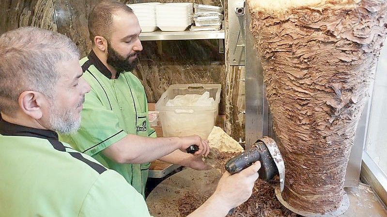
M 217 189 L 212 195 L 218 204 L 232 209 L 250 198 L 252 188 L 258 179 L 258 170 L 261 168 L 261 162 L 257 161 L 248 168 L 237 174 L 230 175 L 227 171 L 220 178 Z

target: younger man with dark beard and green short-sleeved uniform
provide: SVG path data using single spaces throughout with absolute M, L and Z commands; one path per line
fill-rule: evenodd
M 92 90 L 86 94 L 80 129 L 61 139 L 122 174 L 142 194 L 149 162 L 155 159 L 209 169 L 201 160 L 208 144 L 200 137 L 150 138 L 155 130 L 149 127 L 144 87 L 131 72 L 142 50 L 133 11 L 119 1 L 102 1 L 89 14 L 88 26 L 93 49 L 80 64 Z M 195 156 L 183 152 L 193 144 L 200 148 Z

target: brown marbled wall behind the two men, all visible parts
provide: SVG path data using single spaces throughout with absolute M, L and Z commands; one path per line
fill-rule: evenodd
M 58 31 L 70 37 L 85 57 L 91 49 L 87 18 L 100 0 L 0 0 L 0 33 L 21 26 L 36 26 Z M 121 0 L 140 3 L 146 0 Z M 161 0 L 161 2 L 188 2 Z M 189 2 L 223 6 L 223 0 Z M 227 11 L 225 12 L 227 18 Z M 227 21 L 226 21 L 227 28 Z M 227 31 L 226 31 L 227 32 Z M 225 50 L 227 51 L 227 33 Z M 243 67 L 229 67 L 225 55 L 218 53 L 218 40 L 143 42 L 141 61 L 134 72 L 142 81 L 149 102 L 156 102 L 172 84 L 220 83 L 220 114 L 226 115 L 226 130 L 235 139 L 244 138 L 244 84 L 236 81 L 244 75 Z M 227 62 L 227 61 L 226 61 Z

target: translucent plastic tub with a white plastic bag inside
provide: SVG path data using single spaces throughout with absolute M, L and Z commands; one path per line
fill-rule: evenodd
M 161 95 L 155 105 L 159 112 L 159 120 L 163 129 L 163 135 L 168 136 L 190 136 L 199 135 L 207 139 L 217 120 L 220 84 L 189 84 L 171 85 Z M 214 98 L 214 106 L 166 106 L 167 101 L 178 95 L 199 94 L 209 92 Z

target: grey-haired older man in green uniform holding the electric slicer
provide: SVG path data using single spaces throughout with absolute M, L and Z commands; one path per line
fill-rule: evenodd
M 149 217 L 124 177 L 61 143 L 78 129 L 89 85 L 67 37 L 38 28 L 0 36 L 0 217 Z M 190 217 L 223 217 L 251 195 L 260 164 L 224 174 Z

